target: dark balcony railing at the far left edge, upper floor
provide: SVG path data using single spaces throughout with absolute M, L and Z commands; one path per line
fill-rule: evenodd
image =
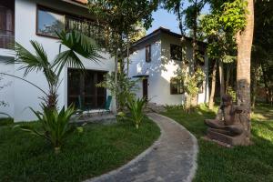
M 15 32 L 0 29 L 0 48 L 13 49 L 15 43 Z

